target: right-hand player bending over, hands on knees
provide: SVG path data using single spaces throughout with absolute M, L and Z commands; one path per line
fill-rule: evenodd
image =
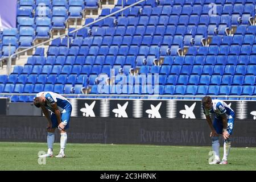
M 234 127 L 234 111 L 223 101 L 212 100 L 209 96 L 202 99 L 202 105 L 205 117 L 210 126 L 210 137 L 212 137 L 212 148 L 215 153 L 213 162 L 209 164 L 228 164 L 228 155 L 231 147 L 230 136 Z M 210 113 L 215 113 L 215 118 L 212 123 Z M 224 138 L 224 156 L 220 162 L 220 142 L 218 134 L 222 134 Z

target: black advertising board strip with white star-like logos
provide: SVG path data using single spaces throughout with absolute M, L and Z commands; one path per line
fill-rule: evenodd
M 73 107 L 72 117 L 205 119 L 200 100 L 120 100 L 109 98 L 69 98 L 68 100 Z M 256 101 L 224 101 L 232 107 L 237 120 L 256 121 Z M 42 111 L 32 105 L 32 102 L 10 102 L 6 108 L 6 115 L 42 115 Z

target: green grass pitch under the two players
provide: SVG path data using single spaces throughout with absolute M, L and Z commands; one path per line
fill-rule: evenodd
M 53 147 L 54 155 L 60 144 Z M 211 147 L 68 143 L 66 158 L 38 158 L 46 143 L 0 142 L 3 170 L 256 170 L 256 148 L 232 148 L 228 165 L 209 165 Z M 221 157 L 223 148 L 220 150 Z M 40 160 L 40 161 L 39 161 Z M 39 163 L 38 163 L 39 161 Z

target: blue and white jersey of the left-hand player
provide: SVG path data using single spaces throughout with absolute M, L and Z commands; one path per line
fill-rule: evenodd
M 39 92 L 36 94 L 36 97 L 40 97 L 44 95 L 46 97 L 46 108 L 53 112 L 53 108 L 51 104 L 57 103 L 57 107 L 60 110 L 60 113 L 65 113 L 66 111 L 72 110 L 71 103 L 67 100 L 67 98 L 61 96 L 60 94 L 54 92 Z

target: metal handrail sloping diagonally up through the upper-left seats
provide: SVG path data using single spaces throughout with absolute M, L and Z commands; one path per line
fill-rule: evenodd
M 71 32 L 69 32 L 68 34 L 73 34 L 73 33 L 77 32 L 77 31 L 81 30 L 82 28 L 89 27 L 89 26 L 91 26 L 91 25 L 94 24 L 94 23 L 100 22 L 101 20 L 104 20 L 105 18 L 109 18 L 109 17 L 112 16 L 112 15 L 118 14 L 118 13 L 120 13 L 120 12 L 126 10 L 126 9 L 129 9 L 130 7 L 133 7 L 133 6 L 135 6 L 135 5 L 138 5 L 139 3 L 142 3 L 142 2 L 144 2 L 144 1 L 147 1 L 147 0 L 141 0 L 141 1 L 135 2 L 135 3 L 133 3 L 133 4 L 130 5 L 130 6 L 126 6 L 126 7 L 122 8 L 122 9 L 120 9 L 120 10 L 118 10 L 118 11 L 115 11 L 114 13 L 111 13 L 111 14 L 109 14 L 109 15 L 106 15 L 106 16 L 100 18 L 100 19 L 94 20 L 94 22 L 88 23 L 88 24 L 86 24 L 85 26 L 82 26 L 81 28 L 77 28 L 76 30 L 71 31 Z M 16 52 L 16 53 L 14 53 L 13 55 L 10 55 L 10 54 L 9 54 L 9 57 L 3 57 L 2 59 L 0 59 L 0 63 L 2 63 L 3 60 L 8 59 L 8 63 L 7 63 L 7 75 L 10 75 L 10 73 L 11 73 L 11 60 L 13 59 L 14 56 L 20 55 L 21 53 L 27 52 L 27 51 L 29 51 L 29 50 L 31 50 L 31 49 L 34 49 L 34 48 L 39 47 L 39 46 L 42 46 L 42 45 L 44 45 L 44 44 L 46 44 L 46 43 L 52 42 L 53 40 L 63 38 L 63 37 L 65 37 L 65 36 L 67 36 L 67 37 L 69 38 L 68 34 L 59 35 L 59 36 L 57 36 L 56 38 L 52 38 L 52 39 L 49 39 L 49 40 L 47 40 L 47 41 L 45 41 L 45 42 L 36 44 L 35 46 L 32 46 L 32 47 L 27 48 L 27 49 L 24 49 L 24 50 L 22 50 L 22 51 Z M 69 40 L 69 39 L 68 39 L 68 40 Z M 69 42 L 68 42 L 68 46 L 69 46 Z

